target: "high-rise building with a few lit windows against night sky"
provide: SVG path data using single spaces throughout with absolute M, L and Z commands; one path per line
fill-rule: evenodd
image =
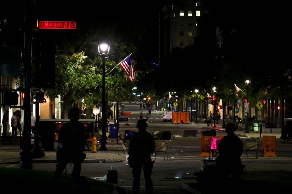
M 211 1 L 211 0 L 209 0 Z M 159 65 L 174 48 L 194 44 L 198 18 L 208 13 L 208 0 L 161 0 L 159 24 Z

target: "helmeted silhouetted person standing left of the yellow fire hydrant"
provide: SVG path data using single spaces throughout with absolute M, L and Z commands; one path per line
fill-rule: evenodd
M 61 176 L 67 163 L 72 161 L 74 164 L 72 171 L 72 181 L 78 181 L 81 171 L 81 163 L 83 163 L 86 154 L 83 153 L 89 133 L 84 124 L 79 122 L 81 111 L 79 108 L 70 109 L 70 121 L 63 124 L 58 135 L 58 142 L 62 143 L 62 147 L 57 151 L 56 171 L 52 177 L 55 181 Z

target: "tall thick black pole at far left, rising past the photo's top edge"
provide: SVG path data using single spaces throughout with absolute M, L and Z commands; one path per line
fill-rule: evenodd
M 30 123 L 31 123 L 31 65 L 32 65 L 32 1 L 25 1 L 25 32 L 24 32 L 24 80 L 23 86 L 25 89 L 25 98 L 23 99 L 23 137 L 22 137 L 22 152 L 20 152 L 20 168 L 32 169 L 32 151 L 30 147 Z

